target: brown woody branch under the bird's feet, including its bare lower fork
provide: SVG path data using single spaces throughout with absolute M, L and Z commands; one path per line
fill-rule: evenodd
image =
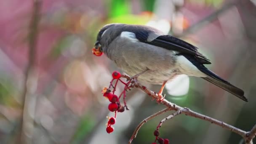
M 122 77 L 126 78 L 127 80 L 131 80 L 131 78 L 128 77 L 127 75 L 122 75 Z M 158 95 L 157 95 L 157 93 L 155 93 L 154 91 L 151 91 L 149 88 L 145 87 L 144 85 L 141 85 L 140 83 L 138 83 L 138 82 L 136 82 L 136 81 L 132 81 L 131 83 L 133 84 L 134 87 L 141 89 L 142 91 L 144 91 L 145 93 L 147 93 L 149 96 L 151 96 L 153 99 L 158 99 L 158 98 L 159 98 Z M 229 131 L 232 131 L 232 132 L 237 133 L 238 135 L 242 136 L 243 139 L 245 139 L 246 144 L 253 144 L 253 143 L 252 143 L 252 139 L 254 138 L 254 136 L 255 136 L 255 134 L 256 134 L 256 125 L 253 126 L 253 128 L 251 129 L 251 131 L 246 132 L 246 131 L 241 130 L 240 128 L 236 128 L 236 127 L 234 127 L 234 126 L 232 126 L 232 125 L 229 125 L 229 124 L 224 123 L 224 122 L 222 122 L 222 121 L 216 120 L 216 119 L 214 119 L 214 118 L 212 118 L 212 117 L 208 117 L 208 116 L 206 116 L 206 115 L 203 115 L 203 114 L 194 112 L 194 111 L 190 110 L 189 108 L 180 107 L 180 106 L 178 106 L 178 105 L 176 105 L 176 104 L 171 103 L 170 101 L 167 101 L 166 99 L 163 99 L 163 101 L 161 102 L 161 104 L 165 105 L 165 106 L 167 107 L 167 109 L 172 109 L 172 110 L 175 110 L 175 111 L 176 111 L 176 113 L 173 113 L 173 114 L 170 115 L 169 117 L 166 117 L 166 118 L 165 118 L 166 120 L 172 118 L 172 117 L 175 116 L 175 115 L 178 115 L 178 114 L 183 113 L 183 114 L 185 114 L 185 115 L 188 115 L 188 116 L 191 116 L 191 117 L 196 117 L 196 118 L 199 118 L 199 119 L 201 119 L 201 120 L 205 120 L 205 121 L 211 122 L 211 123 L 213 123 L 213 124 L 215 124 L 215 125 L 219 125 L 219 126 L 221 126 L 222 128 L 225 128 L 225 129 L 227 129 L 227 130 L 229 130 Z M 163 110 L 162 110 L 162 111 L 163 111 Z M 160 112 L 161 112 L 161 111 L 160 111 Z M 159 112 L 157 112 L 156 114 L 158 114 L 158 113 L 159 113 Z M 154 116 L 152 115 L 152 116 L 150 116 L 150 117 L 148 117 L 148 118 L 149 118 L 149 119 L 152 119 L 153 117 L 155 117 L 156 114 L 154 114 Z M 158 115 L 159 115 L 159 114 L 158 114 Z M 148 119 L 148 118 L 147 118 L 147 119 Z M 136 128 L 136 130 L 135 130 L 134 133 L 133 133 L 133 136 L 131 137 L 131 139 L 130 139 L 130 141 L 129 141 L 129 144 L 131 144 L 131 141 L 133 140 L 133 138 L 135 138 L 136 133 L 139 131 L 139 128 L 140 128 L 144 123 L 147 122 L 147 119 L 145 119 L 146 121 L 144 120 L 145 122 L 142 121 L 142 122 L 138 125 L 138 127 Z M 164 121 L 165 121 L 165 119 L 164 119 Z M 162 121 L 163 121 L 163 120 L 162 120 Z M 161 122 L 162 122 L 162 121 L 161 121 Z M 160 123 L 161 123 L 161 122 L 160 122 Z

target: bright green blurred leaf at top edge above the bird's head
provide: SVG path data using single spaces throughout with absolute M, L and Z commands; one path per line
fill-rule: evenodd
M 109 8 L 109 17 L 123 16 L 130 13 L 130 1 L 112 0 Z

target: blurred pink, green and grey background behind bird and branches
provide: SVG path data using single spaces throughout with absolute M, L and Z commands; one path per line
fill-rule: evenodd
M 244 131 L 256 123 L 255 0 L 1 0 L 1 144 L 126 144 L 144 118 L 165 108 L 133 89 L 130 110 L 106 133 L 114 114 L 101 89 L 120 69 L 91 48 L 108 23 L 149 25 L 199 47 L 211 59 L 207 67 L 242 88 L 249 102 L 184 75 L 168 83 L 166 99 Z M 133 144 L 151 144 L 170 114 L 143 125 Z M 160 136 L 172 144 L 242 144 L 237 134 L 185 115 L 166 121 Z

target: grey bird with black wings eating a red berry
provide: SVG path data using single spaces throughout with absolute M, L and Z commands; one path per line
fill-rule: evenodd
M 162 85 L 157 93 L 163 100 L 165 84 L 178 75 L 201 77 L 248 102 L 244 91 L 204 66 L 211 64 L 198 48 L 158 29 L 135 24 L 107 24 L 97 35 L 93 53 L 104 53 L 127 75 L 142 83 Z

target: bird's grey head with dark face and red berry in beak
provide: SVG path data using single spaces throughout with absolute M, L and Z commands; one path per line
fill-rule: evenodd
M 94 44 L 94 48 L 92 49 L 92 52 L 96 56 L 101 56 L 104 52 L 104 49 L 109 45 L 109 40 L 111 39 L 111 35 L 113 35 L 113 28 L 114 26 L 117 26 L 119 24 L 107 24 L 104 27 L 102 27 L 97 35 L 97 40 Z

